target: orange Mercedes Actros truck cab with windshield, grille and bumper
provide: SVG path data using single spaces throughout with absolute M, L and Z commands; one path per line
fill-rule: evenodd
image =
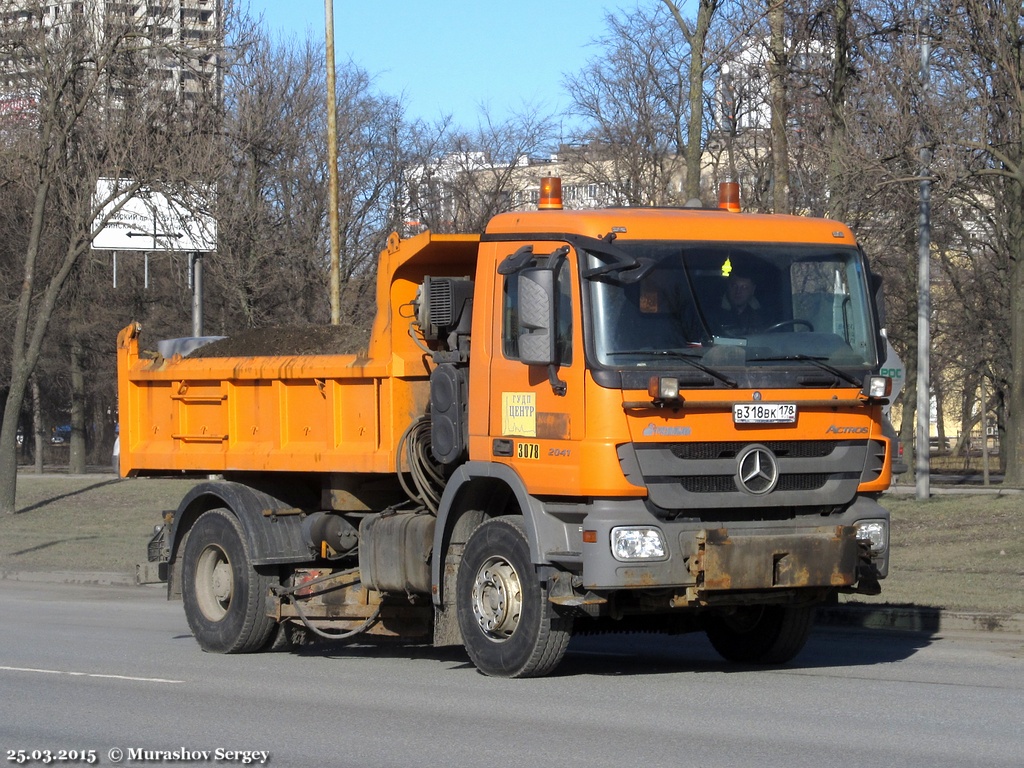
M 746 318 L 729 305 L 738 280 L 756 288 Z M 572 608 L 578 629 L 698 627 L 727 657 L 791 657 L 814 604 L 874 594 L 888 571 L 877 498 L 890 482 L 889 381 L 872 289 L 835 221 L 496 217 L 474 286 L 467 461 L 445 506 L 463 506 L 463 484 L 505 499 L 486 519 L 523 517 L 546 599 Z M 475 554 L 451 530 L 442 549 Z M 486 656 L 508 642 L 486 596 L 512 587 L 487 578 L 494 556 L 482 562 L 461 631 L 481 634 Z M 433 582 L 442 607 L 440 562 Z

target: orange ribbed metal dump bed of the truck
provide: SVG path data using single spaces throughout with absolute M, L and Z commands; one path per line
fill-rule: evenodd
M 381 253 L 378 313 L 356 354 L 164 357 L 118 336 L 121 474 L 393 472 L 426 412 L 427 354 L 410 333 L 424 275 L 471 275 L 479 238 L 397 234 Z M 280 350 L 274 350 L 275 352 Z

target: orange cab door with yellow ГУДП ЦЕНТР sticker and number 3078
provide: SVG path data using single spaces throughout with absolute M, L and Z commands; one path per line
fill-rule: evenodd
M 532 259 L 545 266 L 557 243 L 532 244 Z M 500 304 L 493 329 L 488 431 L 493 461 L 512 466 L 531 494 L 565 494 L 579 482 L 579 446 L 585 434 L 585 365 L 580 279 L 575 251 L 556 256 L 552 294 L 556 362 L 527 365 L 521 359 L 519 278 L 521 269 L 495 275 Z M 509 248 L 509 255 L 516 249 Z M 563 393 L 562 393 L 563 392 Z M 571 493 L 571 492 L 570 492 Z

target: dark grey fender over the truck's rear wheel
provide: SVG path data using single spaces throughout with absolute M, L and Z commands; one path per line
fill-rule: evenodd
M 173 563 L 185 535 L 203 513 L 225 507 L 239 519 L 254 565 L 310 562 L 314 553 L 302 537 L 304 510 L 240 482 L 219 480 L 203 482 L 189 490 L 177 510 L 168 531 Z

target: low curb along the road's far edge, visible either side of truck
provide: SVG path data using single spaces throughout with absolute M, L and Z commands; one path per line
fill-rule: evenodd
M 134 573 L 119 571 L 0 570 L 0 581 L 67 584 L 81 587 L 152 587 L 139 584 Z M 157 586 L 163 586 L 159 583 Z M 823 605 L 815 612 L 815 626 L 831 629 L 891 632 L 999 632 L 1024 635 L 1024 613 L 984 613 L 943 610 L 920 605 Z

